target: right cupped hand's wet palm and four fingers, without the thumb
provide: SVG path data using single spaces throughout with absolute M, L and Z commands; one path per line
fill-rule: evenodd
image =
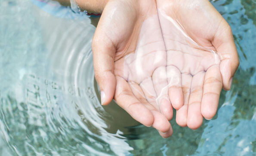
M 167 49 L 169 96 L 179 109 L 176 122 L 197 129 L 203 115 L 213 117 L 219 103 L 219 65 L 225 58 L 213 39 L 228 24 L 208 1 L 158 0 L 157 4 Z

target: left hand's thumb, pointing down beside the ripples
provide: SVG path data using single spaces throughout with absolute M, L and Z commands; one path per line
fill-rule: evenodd
M 102 17 L 93 36 L 93 66 L 96 81 L 101 92 L 101 104 L 108 105 L 114 97 L 116 88 L 116 78 L 114 76 L 114 56 L 116 49 L 111 40 L 105 35 L 106 29 Z

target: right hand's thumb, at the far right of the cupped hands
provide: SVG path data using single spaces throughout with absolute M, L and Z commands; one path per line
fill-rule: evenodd
M 222 21 L 222 26 L 217 30 L 212 43 L 217 52 L 221 55 L 219 69 L 222 75 L 223 88 L 230 90 L 232 78 L 239 66 L 239 58 L 232 30 L 225 20 Z

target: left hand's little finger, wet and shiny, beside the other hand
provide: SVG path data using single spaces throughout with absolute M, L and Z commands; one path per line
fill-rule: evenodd
M 157 104 L 159 105 L 160 111 L 167 120 L 171 120 L 173 118 L 173 108 L 168 96 L 166 67 L 160 66 L 155 69 L 152 75 L 152 80 L 154 89 L 157 93 Z

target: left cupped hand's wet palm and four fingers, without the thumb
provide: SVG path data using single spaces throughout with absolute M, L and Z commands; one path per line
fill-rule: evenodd
M 120 3 L 113 2 L 111 9 Z M 137 5 L 143 6 L 143 9 L 127 10 L 127 6 L 123 9 L 118 6 L 123 12 L 113 14 L 117 16 L 115 18 L 122 19 L 119 21 L 122 25 L 111 26 L 111 30 L 114 31 L 105 32 L 116 49 L 114 75 L 117 89 L 114 99 L 139 122 L 146 126 L 152 125 L 161 132 L 167 132 L 161 134 L 163 137 L 170 136 L 172 129 L 168 120 L 173 116 L 172 107 L 167 90 L 161 93 L 162 88 L 167 86 L 167 53 L 156 3 L 151 0 Z M 137 12 L 138 15 L 131 12 Z M 159 74 L 162 76 L 159 77 Z M 123 102 L 126 100 L 129 103 Z

